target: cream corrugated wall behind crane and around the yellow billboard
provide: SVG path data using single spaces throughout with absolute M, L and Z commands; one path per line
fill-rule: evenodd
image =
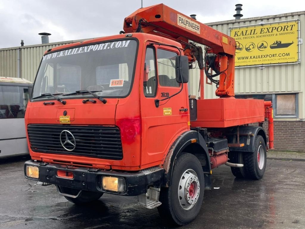
M 300 20 L 300 38 L 305 42 L 305 12 L 287 13 L 278 16 L 264 16 L 241 20 L 230 20 L 207 25 L 229 34 L 230 27 Z M 271 65 L 259 69 L 258 66 L 235 68 L 235 94 L 247 93 L 299 93 L 299 118 L 305 118 L 305 44 L 300 45 L 300 64 Z M 190 94 L 198 96 L 199 70 L 190 70 Z M 206 85 L 205 98 L 215 98 L 215 84 Z

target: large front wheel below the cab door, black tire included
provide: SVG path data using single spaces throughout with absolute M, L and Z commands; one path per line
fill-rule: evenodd
M 161 189 L 159 200 L 162 205 L 158 212 L 175 224 L 188 224 L 198 215 L 203 202 L 202 166 L 196 156 L 185 153 L 177 159 L 172 176 L 172 185 Z

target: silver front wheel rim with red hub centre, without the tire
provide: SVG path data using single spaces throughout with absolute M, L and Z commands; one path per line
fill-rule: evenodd
M 199 198 L 200 183 L 194 170 L 188 169 L 179 182 L 179 202 L 183 209 L 191 209 Z

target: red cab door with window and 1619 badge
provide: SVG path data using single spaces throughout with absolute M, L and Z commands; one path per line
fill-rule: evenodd
M 166 46 L 148 45 L 143 68 L 143 91 L 140 92 L 142 117 L 142 165 L 163 159 L 167 148 L 178 133 L 188 128 L 188 94 L 184 85 L 176 81 L 175 59 L 179 50 Z M 145 166 L 146 167 L 146 166 Z

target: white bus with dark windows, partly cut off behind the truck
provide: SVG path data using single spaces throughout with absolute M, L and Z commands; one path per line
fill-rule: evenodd
M 28 154 L 24 115 L 33 84 L 0 77 L 0 158 Z

